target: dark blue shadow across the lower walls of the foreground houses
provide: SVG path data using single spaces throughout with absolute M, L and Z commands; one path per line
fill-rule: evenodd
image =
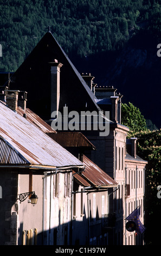
M 36 228 L 24 230 L 21 223 L 18 229 L 18 245 L 108 245 L 107 233 L 113 236 L 115 214 L 105 214 L 99 218 L 96 209 L 95 218 L 92 218 L 91 210 L 89 216 L 87 218 L 84 209 L 82 221 L 75 218 L 72 222 L 59 224 L 40 233 Z

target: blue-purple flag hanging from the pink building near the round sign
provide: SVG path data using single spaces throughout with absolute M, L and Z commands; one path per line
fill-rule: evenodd
M 138 206 L 130 215 L 126 217 L 126 220 L 133 221 L 136 223 L 136 232 L 137 234 L 142 234 L 145 231 L 144 225 L 141 223 L 140 218 L 140 206 Z

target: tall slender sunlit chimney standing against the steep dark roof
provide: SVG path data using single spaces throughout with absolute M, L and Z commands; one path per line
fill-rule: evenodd
M 59 110 L 60 101 L 60 68 L 63 64 L 57 62 L 49 62 L 51 66 L 51 113 Z

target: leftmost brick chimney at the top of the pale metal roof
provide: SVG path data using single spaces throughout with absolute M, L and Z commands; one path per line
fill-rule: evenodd
M 18 93 L 19 90 L 5 90 L 5 96 L 6 96 L 6 104 L 7 107 L 12 109 L 12 111 L 17 111 L 18 107 Z

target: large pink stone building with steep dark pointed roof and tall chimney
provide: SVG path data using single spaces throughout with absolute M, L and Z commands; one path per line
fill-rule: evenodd
M 54 119 L 59 120 L 59 115 L 56 116 L 56 113 L 64 118 L 72 111 L 79 115 L 82 111 L 86 112 L 87 117 L 91 117 L 92 112 L 96 117 L 99 117 L 101 113 L 103 123 L 108 125 L 106 136 L 100 136 L 101 129 L 95 130 L 94 122 L 92 129 L 89 130 L 81 129 L 81 122 L 78 121 L 77 131 L 85 135 L 96 148 L 87 155 L 89 159 L 119 185 L 108 191 L 110 194 L 108 213 L 115 218 L 114 227 L 108 230 L 108 243 L 127 245 L 128 241 L 130 242 L 125 230 L 129 199 L 126 194 L 127 168 L 134 168 L 133 164 L 136 164 L 138 160 L 137 163 L 141 169 L 137 169 L 137 172 L 141 172 L 146 162 L 139 161 L 139 159 L 133 162 L 133 159 L 130 161 L 130 157 L 127 156 L 128 127 L 121 124 L 121 97 L 123 95 L 117 93 L 117 89 L 113 87 L 98 86 L 93 83 L 93 80 L 94 77 L 91 74 L 79 74 L 54 36 L 48 32 L 11 76 L 12 82 L 9 84 L 9 89 L 27 90 L 29 107 L 51 126 Z M 5 86 L 7 85 L 8 82 Z M 64 113 L 66 109 L 68 112 Z M 108 117 L 106 113 L 110 113 Z M 68 126 L 70 120 L 63 119 L 63 128 L 66 132 L 70 131 Z M 62 131 L 63 129 L 60 132 Z M 143 179 L 144 173 L 142 170 Z M 134 181 L 130 179 L 130 182 Z M 131 185 L 130 183 L 130 187 Z M 139 197 L 135 198 L 135 202 L 144 199 L 144 184 L 139 192 Z M 140 201 L 140 204 L 144 212 L 143 201 Z

